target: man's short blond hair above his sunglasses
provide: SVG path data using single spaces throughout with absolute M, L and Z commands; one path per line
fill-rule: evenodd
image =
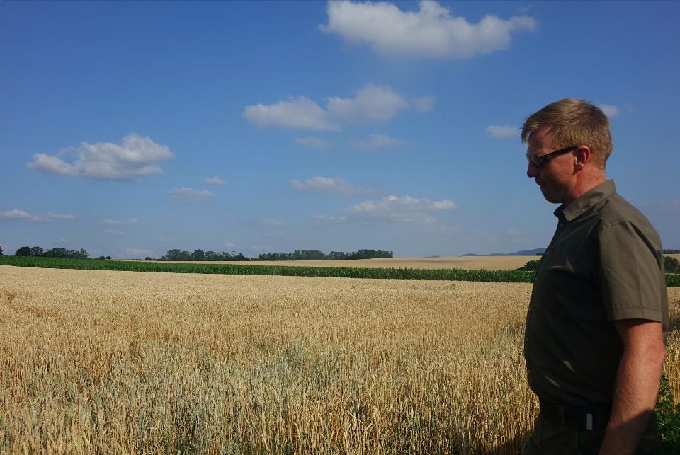
M 587 145 L 593 151 L 594 163 L 604 169 L 614 146 L 609 120 L 596 105 L 574 98 L 550 103 L 527 117 L 522 127 L 522 142 L 526 144 L 531 133 L 545 126 L 553 133 L 556 149 Z

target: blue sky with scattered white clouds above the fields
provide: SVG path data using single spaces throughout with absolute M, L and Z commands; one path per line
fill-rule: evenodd
M 545 247 L 519 129 L 608 113 L 680 248 L 680 3 L 0 1 L 0 246 L 256 256 Z

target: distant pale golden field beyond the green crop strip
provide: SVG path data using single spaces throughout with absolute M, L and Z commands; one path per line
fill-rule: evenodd
M 216 264 L 303 265 L 309 267 L 380 267 L 397 269 L 516 270 L 538 256 L 451 256 L 446 258 L 386 258 L 356 260 L 216 261 Z M 191 261 L 188 261 L 191 262 Z

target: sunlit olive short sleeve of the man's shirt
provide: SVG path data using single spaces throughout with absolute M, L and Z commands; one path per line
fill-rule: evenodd
M 609 320 L 664 322 L 666 277 L 660 242 L 625 221 L 602 228 L 599 246 L 599 279 Z

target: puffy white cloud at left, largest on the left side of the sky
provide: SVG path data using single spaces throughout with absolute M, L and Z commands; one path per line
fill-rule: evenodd
M 68 163 L 64 156 L 73 155 Z M 89 177 L 101 180 L 132 180 L 145 175 L 162 173 L 158 165 L 173 154 L 167 146 L 153 142 L 149 137 L 132 133 L 123 137 L 121 145 L 111 142 L 89 144 L 62 149 L 56 155 L 35 154 L 26 167 L 42 173 Z

